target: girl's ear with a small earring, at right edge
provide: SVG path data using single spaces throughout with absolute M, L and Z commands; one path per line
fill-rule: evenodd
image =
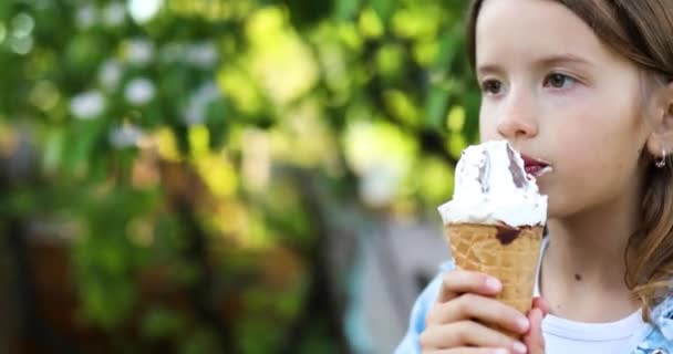
M 673 154 L 673 82 L 654 92 L 652 134 L 648 137 L 648 152 L 654 157 Z

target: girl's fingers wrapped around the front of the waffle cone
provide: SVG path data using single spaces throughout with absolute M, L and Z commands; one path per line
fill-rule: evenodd
M 484 273 L 447 272 L 421 334 L 423 353 L 527 353 L 526 344 L 485 325 L 520 334 L 529 332 L 530 323 L 524 314 L 493 298 L 501 290 L 497 279 Z

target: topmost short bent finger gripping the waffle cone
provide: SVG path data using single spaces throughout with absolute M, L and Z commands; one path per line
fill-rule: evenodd
M 488 274 L 452 270 L 444 274 L 437 302 L 447 302 L 466 292 L 493 296 L 501 290 L 503 283 Z

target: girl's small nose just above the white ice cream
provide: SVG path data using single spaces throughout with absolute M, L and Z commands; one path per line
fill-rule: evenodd
M 508 140 L 538 134 L 538 122 L 530 97 L 510 96 L 498 119 L 498 134 Z

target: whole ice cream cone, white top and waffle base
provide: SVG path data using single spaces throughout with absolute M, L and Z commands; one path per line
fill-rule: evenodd
M 550 164 L 506 140 L 473 145 L 456 166 L 452 200 L 438 208 L 456 266 L 499 279 L 504 287 L 496 299 L 524 314 L 532 306 L 547 222 L 548 198 L 537 178 L 550 171 Z

